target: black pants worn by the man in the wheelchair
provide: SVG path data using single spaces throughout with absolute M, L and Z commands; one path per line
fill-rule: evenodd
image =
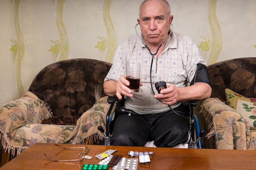
M 188 105 L 173 109 L 187 117 Z M 159 114 L 120 114 L 114 124 L 110 145 L 145 146 L 147 141 L 155 141 L 157 147 L 173 147 L 185 143 L 189 138 L 189 119 L 172 110 Z

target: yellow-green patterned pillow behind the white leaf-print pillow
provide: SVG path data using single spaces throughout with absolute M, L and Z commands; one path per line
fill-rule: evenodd
M 234 91 L 231 91 L 229 88 L 225 89 L 225 95 L 226 95 L 226 104 L 235 110 L 236 110 L 236 104 L 238 99 L 251 102 L 249 98 L 244 97 Z

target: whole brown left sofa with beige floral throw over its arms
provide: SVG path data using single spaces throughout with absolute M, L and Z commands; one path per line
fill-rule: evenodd
M 109 104 L 103 82 L 111 65 L 70 59 L 43 68 L 28 91 L 0 107 L 2 153 L 16 156 L 37 142 L 98 144 L 103 140 L 97 128 L 106 129 Z

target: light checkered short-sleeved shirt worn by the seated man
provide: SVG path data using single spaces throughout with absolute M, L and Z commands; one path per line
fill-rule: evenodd
M 142 34 L 140 36 L 144 40 Z M 152 55 L 137 35 L 131 35 L 118 47 L 113 65 L 105 78 L 105 81 L 117 81 L 121 75 L 126 75 L 126 63 L 141 63 L 140 81 L 143 86 L 139 88 L 138 93 L 133 93 L 133 97 L 126 96 L 125 102 L 126 108 L 139 114 L 162 113 L 170 109 L 168 105 L 153 97 L 150 85 L 151 60 Z M 171 33 L 162 53 L 153 59 L 152 82 L 155 93 L 158 93 L 155 89 L 155 83 L 158 81 L 175 84 L 177 87 L 187 86 L 195 75 L 198 63 L 206 65 L 195 42 L 185 35 Z M 177 102 L 171 107 L 179 105 L 180 102 Z

